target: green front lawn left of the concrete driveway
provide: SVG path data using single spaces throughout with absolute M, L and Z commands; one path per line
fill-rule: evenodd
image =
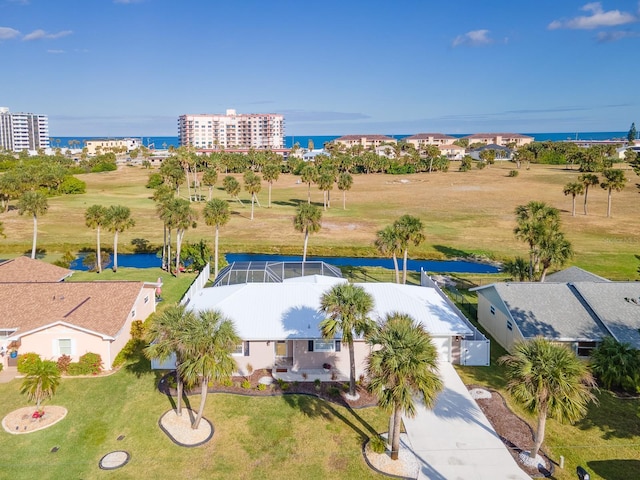
M 373 431 L 385 429 L 387 416 L 378 408 L 353 411 L 296 395 L 213 394 L 205 410 L 213 439 L 184 448 L 158 427 L 171 403 L 155 390 L 157 375 L 132 370 L 138 373 L 125 368 L 108 377 L 63 379 L 49 403 L 68 409 L 64 420 L 26 435 L 0 432 L 0 477 L 379 478 L 360 450 Z M 0 416 L 27 405 L 19 386 L 20 380 L 0 385 Z M 189 401 L 197 408 L 199 397 Z M 55 446 L 59 451 L 50 453 Z M 120 449 L 131 454 L 130 463 L 101 471 L 100 458 Z

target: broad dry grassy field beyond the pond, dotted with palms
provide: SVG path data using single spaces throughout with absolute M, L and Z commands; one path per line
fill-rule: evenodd
M 526 256 L 524 243 L 513 236 L 514 208 L 531 200 L 545 201 L 561 210 L 564 230 L 573 243 L 573 264 L 612 279 L 636 279 L 640 263 L 640 234 L 636 221 L 638 190 L 632 170 L 622 192 L 613 193 L 613 216 L 606 218 L 607 193 L 592 187 L 589 215 L 582 213 L 583 197 L 577 198 L 577 214 L 571 216 L 571 197 L 563 186 L 575 181 L 577 170 L 559 166 L 534 165 L 508 177 L 512 163 L 499 163 L 484 170 L 414 175 L 357 175 L 347 192 L 347 209 L 342 195 L 331 192 L 332 206 L 324 213 L 322 230 L 309 242 L 310 254 L 375 255 L 373 240 L 380 228 L 400 215 L 420 217 L 426 225 L 426 242 L 411 251 L 413 258 L 445 258 L 484 255 L 496 260 Z M 95 203 L 123 204 L 132 209 L 136 226 L 121 235 L 120 250 L 131 251 L 131 240 L 144 238 L 159 245 L 162 227 L 156 218 L 151 191 L 144 188 L 149 170 L 121 167 L 116 172 L 80 175 L 87 183 L 84 195 L 51 198 L 49 212 L 39 220 L 38 245 L 47 258 L 66 250 L 92 248 L 95 234 L 84 225 L 84 211 Z M 222 175 L 221 175 L 222 176 Z M 221 183 L 221 182 L 219 182 Z M 264 183 L 264 182 L 263 182 Z M 183 188 L 184 190 L 184 188 Z M 220 188 L 214 195 L 228 198 Z M 221 230 L 221 248 L 234 252 L 289 253 L 302 250 L 302 235 L 292 226 L 295 207 L 307 196 L 307 186 L 298 177 L 282 175 L 274 184 L 272 208 L 266 208 L 267 185 L 259 194 L 262 208 L 256 207 L 250 221 L 249 196 L 242 192 L 245 206 L 231 203 L 233 215 Z M 322 194 L 312 188 L 312 200 L 321 205 Z M 198 210 L 202 204 L 196 205 Z M 7 238 L 0 239 L 3 253 L 19 254 L 30 248 L 32 222 L 11 210 L 0 215 Z M 213 229 L 200 221 L 187 232 L 187 241 L 212 240 Z M 103 235 L 109 246 L 111 235 Z

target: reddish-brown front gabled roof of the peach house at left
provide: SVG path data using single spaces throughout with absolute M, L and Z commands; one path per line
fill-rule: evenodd
M 142 288 L 143 282 L 123 281 L 0 283 L 0 298 L 11 299 L 0 302 L 0 328 L 20 335 L 66 322 L 114 337 Z

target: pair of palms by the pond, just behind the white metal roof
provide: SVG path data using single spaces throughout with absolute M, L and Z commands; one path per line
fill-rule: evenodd
M 375 246 L 382 255 L 391 255 L 396 273 L 396 283 L 400 283 L 398 254 L 402 252 L 402 283 L 407 283 L 407 259 L 409 247 L 418 246 L 425 240 L 422 221 L 411 215 L 403 215 L 392 225 L 379 230 Z

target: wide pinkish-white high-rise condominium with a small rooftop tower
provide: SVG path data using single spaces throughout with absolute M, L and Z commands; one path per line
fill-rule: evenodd
M 284 148 L 284 116 L 273 113 L 181 115 L 180 145 L 198 150 Z

